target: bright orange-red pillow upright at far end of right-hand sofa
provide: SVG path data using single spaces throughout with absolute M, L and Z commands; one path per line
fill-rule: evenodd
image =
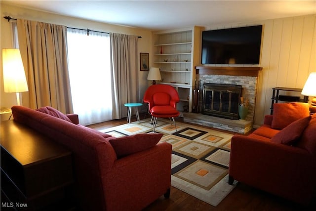
M 283 129 L 292 122 L 310 115 L 308 103 L 275 103 L 273 104 L 273 129 Z

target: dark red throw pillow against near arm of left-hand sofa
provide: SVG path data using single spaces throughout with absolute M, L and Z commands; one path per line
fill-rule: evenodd
M 162 135 L 161 133 L 140 133 L 119 138 L 109 137 L 107 140 L 119 158 L 156 146 Z

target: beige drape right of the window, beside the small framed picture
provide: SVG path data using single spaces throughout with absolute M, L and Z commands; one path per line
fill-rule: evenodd
M 138 36 L 111 33 L 113 119 L 127 116 L 125 103 L 139 99 Z

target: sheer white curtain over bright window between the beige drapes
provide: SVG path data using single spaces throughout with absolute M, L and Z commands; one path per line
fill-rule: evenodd
M 112 119 L 110 36 L 68 29 L 68 62 L 74 113 L 79 124 Z

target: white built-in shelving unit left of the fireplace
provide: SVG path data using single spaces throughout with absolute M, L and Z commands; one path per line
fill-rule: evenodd
M 158 83 L 176 88 L 180 97 L 177 109 L 181 112 L 192 111 L 194 67 L 199 64 L 199 53 L 194 52 L 199 52 L 200 31 L 193 27 L 153 33 L 153 66 L 160 69 L 162 79 Z

